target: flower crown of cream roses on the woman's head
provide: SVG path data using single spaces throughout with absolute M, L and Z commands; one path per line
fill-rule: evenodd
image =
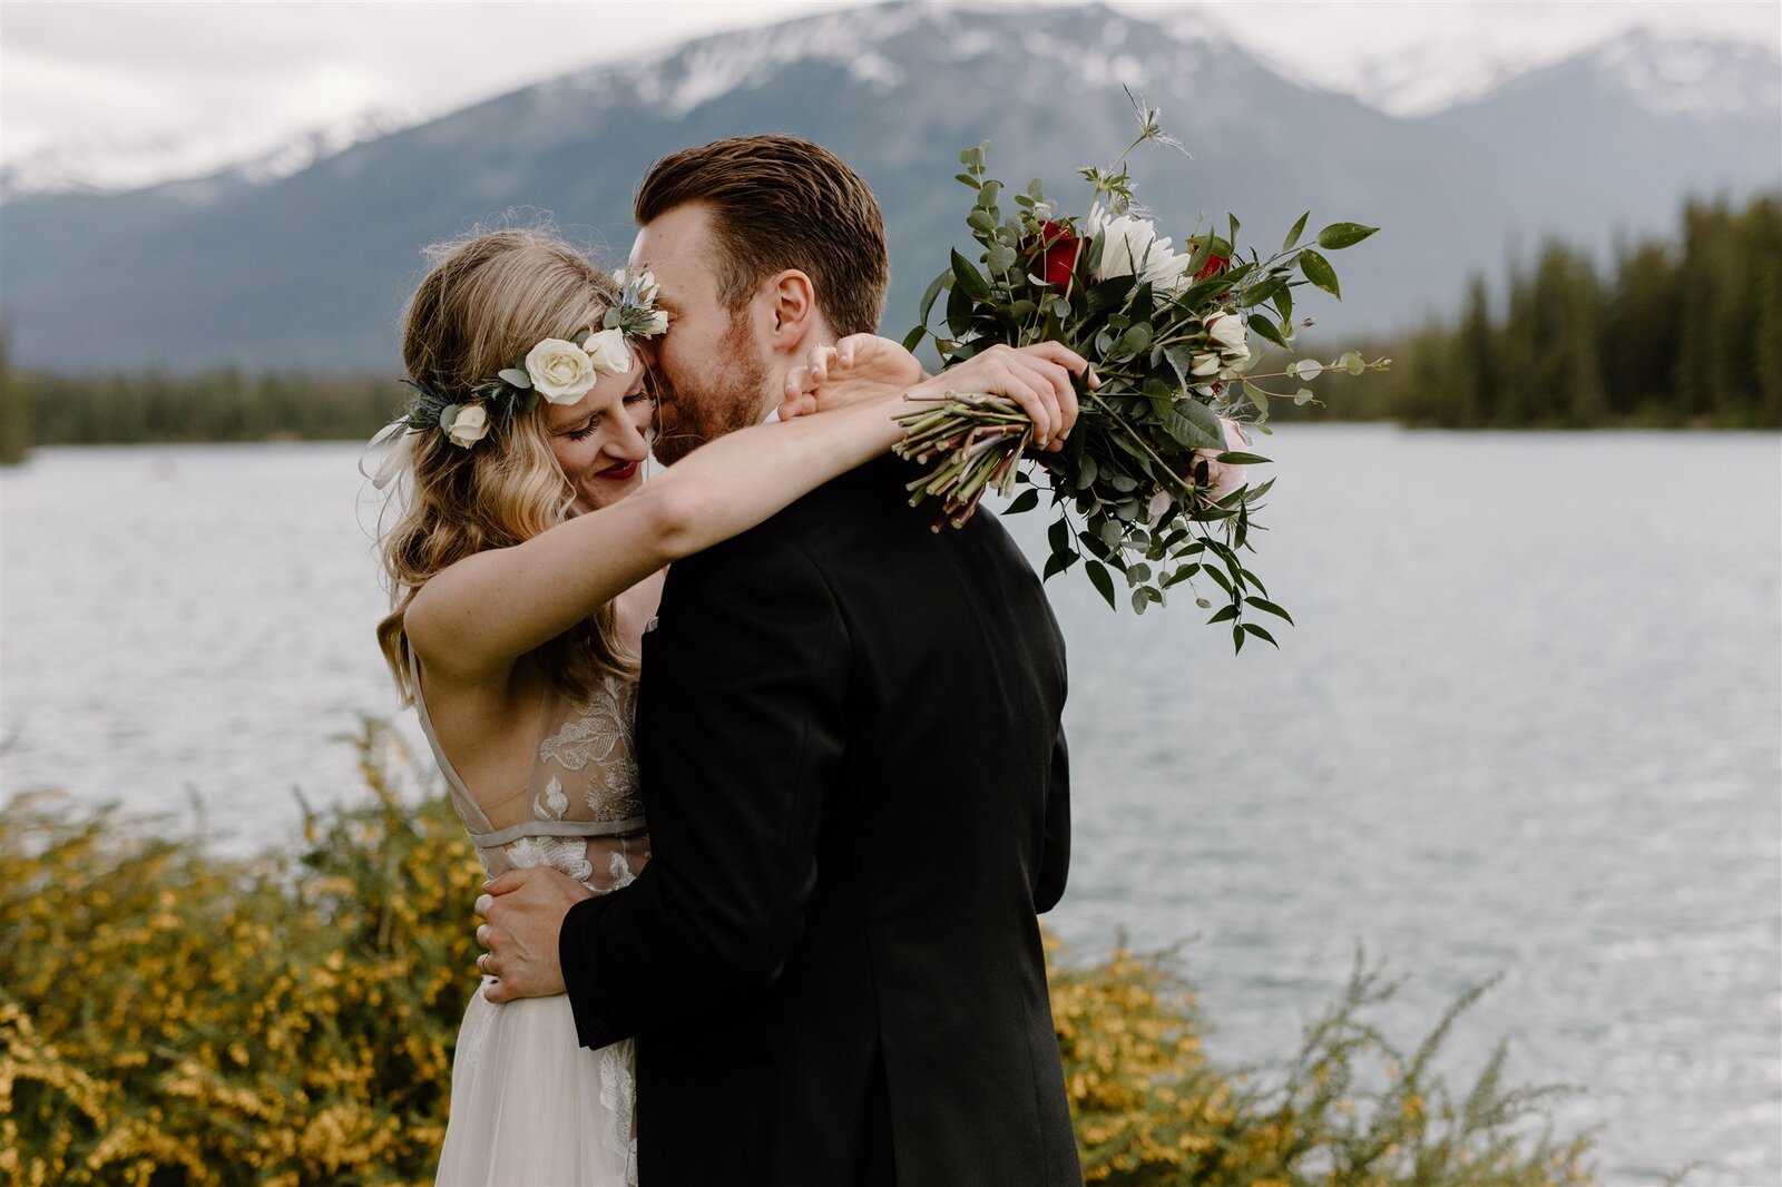
M 413 380 L 403 380 L 415 399 L 372 444 L 405 431 L 438 430 L 451 444 L 469 449 L 488 437 L 490 428 L 536 408 L 540 396 L 552 405 L 574 405 L 602 374 L 629 372 L 631 344 L 666 330 L 668 314 L 656 308 L 656 278 L 650 273 L 627 276 L 625 269 L 618 269 L 613 283 L 618 292 L 609 294 L 611 303 L 599 330 L 588 326 L 570 339 L 538 342 L 526 351 L 526 358 L 470 389 L 467 399 L 453 401 Z

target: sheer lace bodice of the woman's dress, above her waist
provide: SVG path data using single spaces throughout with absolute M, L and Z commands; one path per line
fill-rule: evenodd
M 649 861 L 649 838 L 631 745 L 634 681 L 608 674 L 581 700 L 570 700 L 547 684 L 538 704 L 531 775 L 524 795 L 503 797 L 488 809 L 504 813 L 497 815 L 497 827 L 440 747 L 413 652 L 408 654 L 408 670 L 421 731 L 490 875 L 551 866 L 602 893 L 638 875 Z

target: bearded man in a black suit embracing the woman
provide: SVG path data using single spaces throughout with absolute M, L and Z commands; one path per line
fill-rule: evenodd
M 816 144 L 675 153 L 636 219 L 666 462 L 879 323 L 879 205 Z M 964 367 L 1067 383 L 1055 360 Z M 490 998 L 567 987 L 584 1046 L 636 1036 L 647 1187 L 1082 1182 L 1035 920 L 1069 854 L 1064 645 L 996 519 L 936 535 L 907 479 L 884 458 L 677 561 L 638 695 L 649 864 L 481 904 Z

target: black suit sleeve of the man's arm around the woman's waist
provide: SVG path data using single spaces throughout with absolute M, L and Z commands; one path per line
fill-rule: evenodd
M 650 861 L 558 939 L 583 1046 L 777 977 L 843 750 L 848 638 L 795 545 L 757 531 L 679 561 L 659 622 L 638 688 Z

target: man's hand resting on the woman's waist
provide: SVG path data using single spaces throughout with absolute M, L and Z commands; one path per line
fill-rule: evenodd
M 563 993 L 558 932 L 568 909 L 593 898 L 593 891 L 545 866 L 508 870 L 485 882 L 483 891 L 476 913 L 488 921 L 476 929 L 476 943 L 488 952 L 476 959 L 476 968 L 492 978 L 483 996 L 511 1002 Z

